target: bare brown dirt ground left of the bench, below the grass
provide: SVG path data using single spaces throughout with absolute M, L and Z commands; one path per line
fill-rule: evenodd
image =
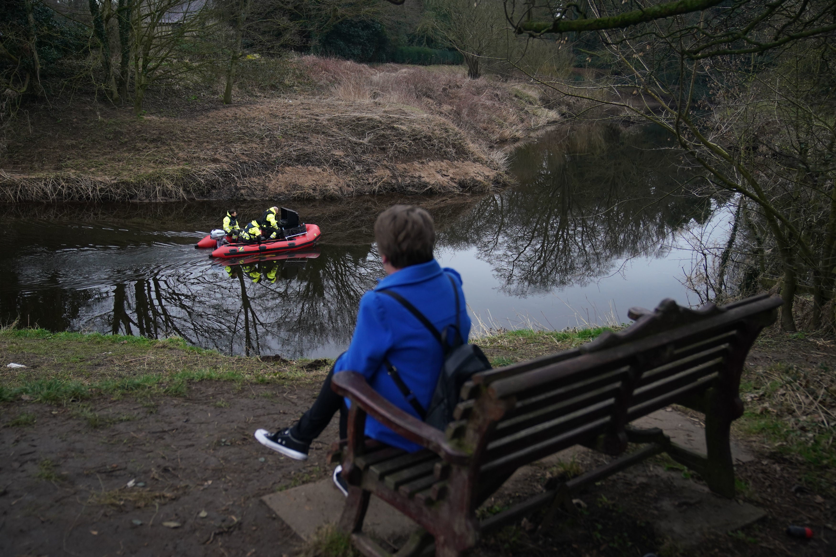
M 252 433 L 290 423 L 314 390 L 231 391 L 200 382 L 186 397 L 97 401 L 97 428 L 70 408 L 4 408 L 34 422 L 0 429 L 0 554 L 293 553 L 298 539 L 258 498 L 327 474 L 326 447 L 301 463 Z

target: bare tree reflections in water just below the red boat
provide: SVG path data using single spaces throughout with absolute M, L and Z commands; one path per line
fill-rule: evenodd
M 110 311 L 77 328 L 191 344 L 245 355 L 299 357 L 349 342 L 359 298 L 382 275 L 370 246 L 324 246 L 319 257 L 206 266 L 114 287 Z

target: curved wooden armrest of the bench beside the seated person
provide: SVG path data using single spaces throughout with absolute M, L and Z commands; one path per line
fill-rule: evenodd
M 358 372 L 337 372 L 331 379 L 331 388 L 341 397 L 349 397 L 352 404 L 357 404 L 365 413 L 392 431 L 429 448 L 446 462 L 466 464 L 470 455 L 447 443 L 441 431 L 410 416 L 373 389 L 366 382 L 365 377 Z

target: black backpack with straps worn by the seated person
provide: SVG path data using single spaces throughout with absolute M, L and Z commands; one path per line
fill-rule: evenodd
M 410 403 L 412 408 L 415 408 L 415 412 L 421 416 L 424 422 L 430 424 L 433 428 L 441 429 L 441 431 L 444 431 L 447 424 L 453 420 L 453 410 L 456 409 L 456 404 L 459 403 L 461 387 L 465 382 L 474 373 L 491 369 L 491 362 L 487 361 L 487 357 L 485 357 L 482 349 L 475 344 L 466 344 L 461 338 L 459 290 L 456 288 L 456 282 L 453 281 L 453 278 L 450 275 L 447 275 L 447 278 L 450 279 L 450 283 L 453 286 L 453 293 L 456 295 L 456 325 L 448 325 L 444 327 L 444 331 L 442 332 L 438 332 L 438 329 L 436 329 L 421 311 L 418 311 L 415 306 L 410 304 L 409 301 L 397 292 L 390 290 L 378 291 L 399 301 L 402 306 L 409 310 L 432 333 L 433 337 L 436 337 L 436 341 L 441 343 L 441 349 L 444 351 L 444 363 L 441 364 L 441 373 L 438 374 L 436 390 L 432 393 L 430 408 L 425 409 L 422 407 L 421 403 L 415 397 L 415 393 L 401 379 L 400 373 L 395 366 L 389 360 L 385 360 L 384 362 L 390 377 L 392 377 L 398 390 L 406 398 L 406 402 Z

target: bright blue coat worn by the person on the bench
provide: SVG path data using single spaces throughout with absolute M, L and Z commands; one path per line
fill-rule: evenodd
M 404 296 L 441 332 L 447 325 L 456 323 L 456 298 L 447 276 L 453 277 L 459 291 L 461 337 L 466 341 L 471 321 L 461 291 L 461 276 L 452 269 L 442 270 L 438 262 L 432 260 L 392 273 L 381 279 L 375 290 L 363 295 L 351 345 L 337 360 L 334 372 L 362 373 L 375 391 L 418 418 L 418 413 L 386 372 L 384 359 L 397 368 L 418 402 L 427 408 L 444 361 L 441 344 L 400 302 L 377 291 L 391 289 Z M 410 452 L 421 448 L 371 417 L 366 418 L 365 434 Z

